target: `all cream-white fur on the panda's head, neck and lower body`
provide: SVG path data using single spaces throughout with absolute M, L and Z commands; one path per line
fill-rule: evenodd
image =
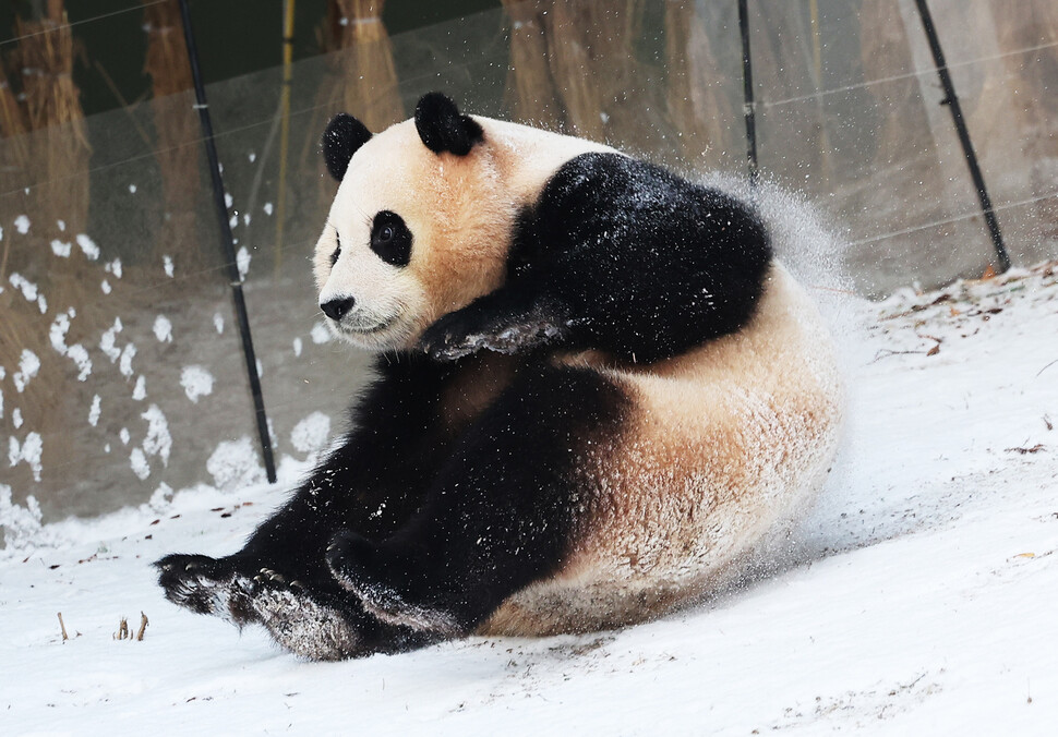
M 353 230 L 360 218 L 349 214 L 397 210 L 417 234 L 419 255 L 397 273 L 359 246 L 363 257 L 332 270 L 335 243 L 325 231 L 315 261 L 321 302 L 348 292 L 371 309 L 376 291 L 399 294 L 400 310 L 413 316 L 398 322 L 402 336 L 394 328 L 342 337 L 365 348 L 413 341 L 443 314 L 497 288 L 519 209 L 569 159 L 618 153 L 473 120 L 483 141 L 464 157 L 428 150 L 413 121 L 392 126 L 353 157 L 329 225 L 344 244 L 365 243 Z M 400 176 L 380 178 L 387 168 Z M 500 394 L 518 360 L 485 353 L 468 362 L 444 399 L 448 423 L 465 426 Z M 769 529 L 810 499 L 833 456 L 840 391 L 829 337 L 781 265 L 772 266 L 749 325 L 734 335 L 649 365 L 617 365 L 597 351 L 554 360 L 594 368 L 623 389 L 632 411 L 620 437 L 577 461 L 584 508 L 561 570 L 506 600 L 479 628 L 483 633 L 618 626 L 700 596 L 737 575 Z

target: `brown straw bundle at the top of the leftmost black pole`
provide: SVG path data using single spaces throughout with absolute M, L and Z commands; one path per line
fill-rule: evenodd
M 195 201 L 200 185 L 199 121 L 192 108 L 193 81 L 176 0 L 143 0 L 151 76 L 151 109 L 157 137 L 155 158 L 161 169 L 161 191 L 168 225 L 163 230 L 167 252 L 178 253 L 188 267 L 204 258 L 195 239 Z

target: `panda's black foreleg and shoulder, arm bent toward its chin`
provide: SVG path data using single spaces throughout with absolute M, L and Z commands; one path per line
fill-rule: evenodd
M 742 328 L 770 263 L 748 206 L 645 161 L 585 154 L 519 217 L 506 285 L 443 317 L 421 347 L 442 361 L 541 345 L 657 361 Z

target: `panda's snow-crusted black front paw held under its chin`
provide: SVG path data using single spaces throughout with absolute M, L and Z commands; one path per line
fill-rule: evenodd
M 558 342 L 565 337 L 565 325 L 555 311 L 542 305 L 501 309 L 483 298 L 430 326 L 419 347 L 435 361 L 458 361 L 482 349 L 520 353 Z

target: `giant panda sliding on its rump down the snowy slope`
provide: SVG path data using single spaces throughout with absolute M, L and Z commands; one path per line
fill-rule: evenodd
M 438 93 L 323 137 L 320 309 L 351 428 L 167 597 L 312 660 L 614 628 L 738 576 L 834 452 L 822 322 L 747 203 Z

